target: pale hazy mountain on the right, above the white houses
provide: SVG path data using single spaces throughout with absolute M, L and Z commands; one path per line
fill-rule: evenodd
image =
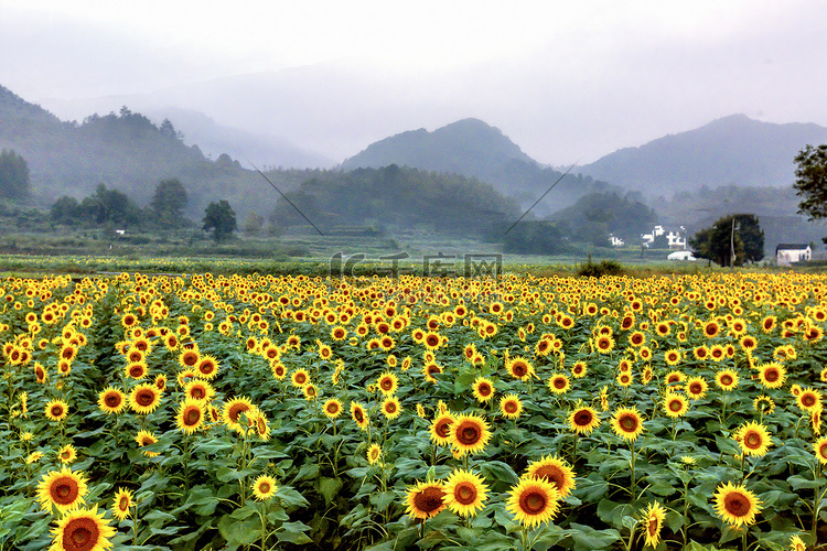
M 578 170 L 647 195 L 723 185 L 787 187 L 804 145 L 827 142 L 827 128 L 776 125 L 745 115 L 713 120 L 640 148 L 625 148 Z

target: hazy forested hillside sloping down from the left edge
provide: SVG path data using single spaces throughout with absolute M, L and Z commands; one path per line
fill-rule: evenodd
M 33 199 L 43 206 L 60 196 L 82 198 L 98 184 L 149 203 L 155 185 L 176 177 L 190 196 L 186 214 L 200 219 L 212 201 L 227 199 L 239 213 L 268 215 L 278 194 L 255 171 L 228 155 L 211 160 L 186 145 L 170 121 L 153 125 L 141 114 L 92 115 L 61 121 L 0 86 L 0 149 L 14 150 L 31 172 Z M 315 171 L 270 172 L 282 190 L 298 187 Z

